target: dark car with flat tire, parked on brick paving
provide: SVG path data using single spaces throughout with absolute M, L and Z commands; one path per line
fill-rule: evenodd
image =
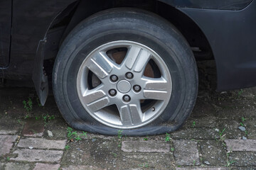
M 173 132 L 198 92 L 197 60 L 217 91 L 256 86 L 255 0 L 0 1 L 0 78 L 49 84 L 75 129 Z

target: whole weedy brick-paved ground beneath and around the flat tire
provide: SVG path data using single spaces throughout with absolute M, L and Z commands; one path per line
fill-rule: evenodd
M 216 98 L 219 97 L 221 95 Z M 231 96 L 212 101 L 206 100 L 207 96 L 199 97 L 200 103 L 191 118 L 169 138 L 167 135 L 113 137 L 90 133 L 85 137 L 73 130 L 81 135 L 81 140 L 73 137 L 73 142 L 68 140 L 68 125 L 56 106 L 34 106 L 30 118 L 25 118 L 26 111 L 21 112 L 24 111 L 23 97 L 15 98 L 17 103 L 11 99 L 12 106 L 0 106 L 1 170 L 256 169 L 256 98 Z M 238 105 L 234 107 L 235 101 Z M 43 115 L 47 115 L 47 121 Z M 54 117 L 49 119 L 50 115 Z M 238 129 L 241 125 L 245 131 Z M 48 130 L 53 137 L 48 135 Z

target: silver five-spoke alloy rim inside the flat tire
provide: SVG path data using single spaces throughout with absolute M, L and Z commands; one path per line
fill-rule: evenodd
M 118 48 L 127 49 L 119 64 L 107 55 Z M 144 75 L 150 60 L 160 76 Z M 92 86 L 93 77 L 97 86 Z M 139 128 L 161 115 L 171 98 L 171 84 L 169 68 L 154 50 L 126 40 L 108 42 L 90 52 L 77 77 L 78 96 L 87 113 L 118 129 Z

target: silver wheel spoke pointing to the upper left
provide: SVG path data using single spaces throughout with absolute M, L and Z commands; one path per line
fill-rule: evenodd
M 103 79 L 112 71 L 114 64 L 109 57 L 102 52 L 97 52 L 87 62 L 87 68 L 90 69 L 98 78 Z

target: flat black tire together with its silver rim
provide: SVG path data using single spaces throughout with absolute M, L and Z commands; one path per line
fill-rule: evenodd
M 198 73 L 181 33 L 154 13 L 112 8 L 65 38 L 53 92 L 73 128 L 156 135 L 181 127 L 196 101 Z

